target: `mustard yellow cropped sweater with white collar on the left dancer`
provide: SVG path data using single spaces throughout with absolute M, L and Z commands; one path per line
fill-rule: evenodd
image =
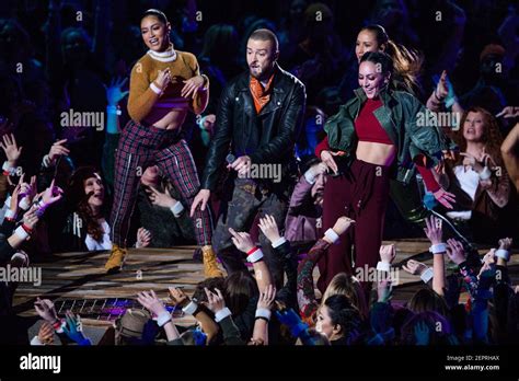
M 171 83 L 161 94 L 157 94 L 150 84 L 159 76 L 159 70 L 170 68 Z M 149 50 L 131 69 L 128 114 L 135 122 L 141 122 L 154 108 L 185 109 L 201 114 L 207 107 L 207 100 L 198 92 L 194 99 L 181 96 L 183 81 L 200 74 L 196 57 L 187 51 L 169 49 L 163 53 Z M 209 80 L 206 76 L 206 91 Z M 203 103 L 204 101 L 204 103 Z

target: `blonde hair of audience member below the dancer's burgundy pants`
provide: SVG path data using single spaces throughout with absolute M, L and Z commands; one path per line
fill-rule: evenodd
M 368 316 L 368 304 L 364 297 L 362 287 L 360 286 L 360 281 L 353 275 L 347 275 L 346 273 L 335 275 L 324 291 L 323 298 L 321 299 L 321 307 L 326 299 L 334 295 L 344 295 L 349 299 L 349 302 L 357 308 L 362 318 Z

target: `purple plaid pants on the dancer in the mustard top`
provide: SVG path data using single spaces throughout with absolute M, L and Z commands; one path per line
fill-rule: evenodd
M 112 242 L 126 247 L 129 222 L 134 213 L 140 175 L 157 164 L 178 190 L 189 212 L 200 182 L 187 143 L 178 139 L 178 130 L 143 126 L 130 120 L 123 130 L 115 157 L 114 204 L 112 206 Z M 212 222 L 209 208 L 197 208 L 193 224 L 199 245 L 211 244 Z

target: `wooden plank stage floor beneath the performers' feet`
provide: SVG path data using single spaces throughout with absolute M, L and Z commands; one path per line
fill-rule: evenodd
M 431 266 L 431 255 L 427 252 L 426 240 L 385 241 L 394 243 L 397 249 L 394 265 L 399 266 L 414 257 Z M 183 287 L 191 296 L 197 282 L 204 279 L 203 265 L 193 259 L 195 246 L 176 246 L 173 249 L 131 249 L 122 273 L 107 275 L 104 263 L 107 252 L 61 253 L 44 263 L 32 263 L 42 267 L 42 285 L 20 284 L 14 296 L 14 309 L 22 316 L 34 315 L 33 303 L 36 297 L 47 298 L 56 303 L 62 300 L 91 301 L 95 299 L 117 298 L 127 300 L 136 297 L 141 290 L 153 289 L 159 298 L 168 300 L 168 287 Z M 487 250 L 480 250 L 480 254 Z M 519 284 L 519 255 L 512 255 L 509 263 L 512 284 Z M 452 266 L 448 264 L 448 269 Z M 314 279 L 316 279 L 315 270 Z M 399 286 L 393 292 L 393 300 L 405 301 L 420 287 L 418 277 L 404 270 L 399 272 Z M 62 304 L 62 303 L 61 303 Z M 61 311 L 64 313 L 65 311 Z M 103 320 L 103 319 L 101 319 Z M 106 318 L 108 321 L 109 319 Z M 180 318 L 180 324 L 191 322 L 188 316 Z M 101 322 L 99 322 L 101 323 Z M 108 323 L 108 322 L 106 322 Z

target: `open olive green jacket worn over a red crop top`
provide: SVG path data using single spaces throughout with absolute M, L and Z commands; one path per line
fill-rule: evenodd
M 325 124 L 330 148 L 346 152 L 351 163 L 357 150 L 355 119 L 367 100 L 362 89 L 354 91 L 355 96 L 339 107 L 337 114 Z M 396 147 L 396 180 L 408 184 L 415 172 L 413 160 L 425 155 L 428 166 L 441 161 L 442 151 L 455 146 L 438 127 L 437 117 L 415 96 L 403 91 L 384 90 L 380 93 L 382 107 L 373 112 L 382 128 Z

